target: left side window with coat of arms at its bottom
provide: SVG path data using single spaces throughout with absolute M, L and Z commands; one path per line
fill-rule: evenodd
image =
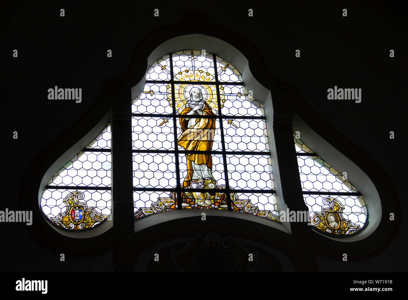
M 95 227 L 111 213 L 111 126 L 108 126 L 48 182 L 40 206 L 56 226 Z

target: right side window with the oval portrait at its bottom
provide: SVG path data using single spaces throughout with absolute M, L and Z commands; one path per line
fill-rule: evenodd
M 364 227 L 367 208 L 346 174 L 340 174 L 293 134 L 300 181 L 312 225 L 337 235 Z

